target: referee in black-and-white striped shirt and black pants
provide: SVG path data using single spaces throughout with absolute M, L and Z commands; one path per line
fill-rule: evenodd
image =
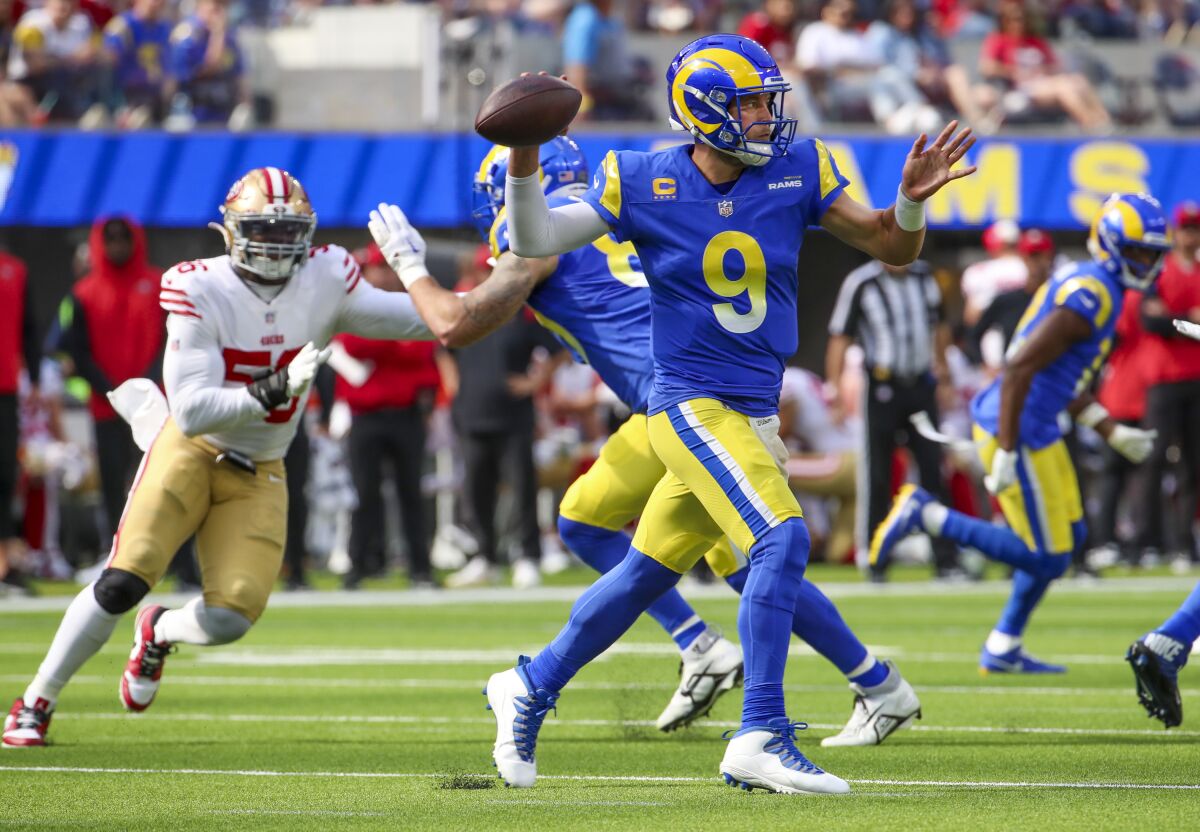
M 941 447 L 910 430 L 908 421 L 925 411 L 936 424 L 937 388 L 949 384 L 946 348 L 950 330 L 942 319 L 942 293 L 928 263 L 895 268 L 871 261 L 846 276 L 829 322 L 829 382 L 841 378 L 846 351 L 854 342 L 863 347 L 866 371 L 856 527 L 858 565 L 866 568 L 870 535 L 892 504 L 892 457 L 902 437 L 917 460 L 920 484 L 938 499 L 949 499 Z M 956 573 L 953 543 L 934 540 L 934 565 L 940 576 Z M 874 568 L 870 577 L 884 579 Z

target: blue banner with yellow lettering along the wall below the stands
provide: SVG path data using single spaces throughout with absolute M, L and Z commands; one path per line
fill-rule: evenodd
M 611 149 L 649 150 L 679 134 L 575 137 L 595 164 Z M 911 143 L 826 137 L 850 193 L 871 206 L 895 197 Z M 126 213 L 149 226 L 204 226 L 245 170 L 275 164 L 307 186 L 322 226 L 366 225 L 379 202 L 420 227 L 470 222 L 470 182 L 486 143 L 473 134 L 83 133 L 0 131 L 0 225 L 83 226 Z M 1078 229 L 1112 191 L 1163 204 L 1200 198 L 1200 142 L 992 138 L 970 155 L 979 172 L 935 196 L 934 228 Z

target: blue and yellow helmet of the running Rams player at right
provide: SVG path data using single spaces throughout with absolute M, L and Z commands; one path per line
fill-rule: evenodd
M 1148 193 L 1114 193 L 1092 222 L 1087 251 L 1130 289 L 1145 292 L 1171 247 L 1166 214 Z

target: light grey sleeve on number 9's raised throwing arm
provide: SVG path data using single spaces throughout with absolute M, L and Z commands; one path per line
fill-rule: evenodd
M 535 173 L 509 176 L 504 204 L 509 214 L 509 246 L 520 257 L 565 255 L 608 233 L 608 223 L 586 202 L 551 210 Z

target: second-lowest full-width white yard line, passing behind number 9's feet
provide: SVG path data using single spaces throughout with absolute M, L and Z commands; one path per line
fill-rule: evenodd
M 104 711 L 94 713 L 55 713 L 55 719 L 101 719 L 121 722 L 167 722 L 167 723 L 311 723 L 319 724 L 361 724 L 361 725 L 494 725 L 492 717 L 424 717 L 414 714 L 296 714 L 296 713 L 120 713 Z M 710 728 L 739 728 L 742 723 L 706 720 Z M 546 726 L 559 728 L 654 728 L 649 719 L 547 719 Z M 841 723 L 808 723 L 817 731 L 840 731 Z M 1037 726 L 1001 726 L 1001 725 L 913 725 L 905 729 L 918 734 L 1024 734 L 1052 736 L 1090 736 L 1090 737 L 1157 737 L 1171 740 L 1175 737 L 1200 737 L 1200 731 L 1145 728 L 1037 728 Z

